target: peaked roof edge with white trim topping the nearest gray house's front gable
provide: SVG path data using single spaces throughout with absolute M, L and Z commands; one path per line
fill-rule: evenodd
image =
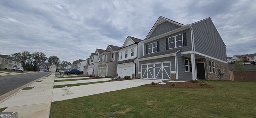
M 180 27 L 183 27 L 183 26 L 184 26 L 184 24 L 181 24 L 181 23 L 176 22 L 176 21 L 174 21 L 174 20 L 170 20 L 170 19 L 168 19 L 168 18 L 165 18 L 165 17 L 160 16 L 160 17 L 158 18 L 158 20 L 156 21 L 156 23 L 154 24 L 154 26 L 153 26 L 153 27 L 151 28 L 151 30 L 148 32 L 148 35 L 145 37 L 144 40 L 149 39 L 150 35 L 151 35 L 151 34 L 153 33 L 153 31 L 155 30 L 156 26 L 158 26 L 159 24 L 161 24 L 162 22 L 165 22 L 165 21 L 171 22 L 171 23 L 176 24 L 176 25 L 178 25 L 178 26 L 180 26 Z

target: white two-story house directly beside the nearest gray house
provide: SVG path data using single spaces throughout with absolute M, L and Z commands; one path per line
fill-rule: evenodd
M 137 58 L 143 56 L 143 44 L 141 39 L 128 36 L 118 50 L 117 76 L 138 77 Z

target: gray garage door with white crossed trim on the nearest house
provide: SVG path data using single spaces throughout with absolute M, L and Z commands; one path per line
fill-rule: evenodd
M 141 65 L 144 79 L 171 79 L 171 62 Z

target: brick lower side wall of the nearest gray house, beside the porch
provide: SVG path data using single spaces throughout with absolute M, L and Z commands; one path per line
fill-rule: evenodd
M 215 73 L 210 73 L 210 66 L 209 66 L 209 61 L 212 61 L 215 63 Z M 203 59 L 195 59 L 195 63 L 202 63 L 204 62 L 205 66 L 205 74 L 206 74 L 206 80 L 221 80 L 221 76 L 219 75 L 219 69 L 221 72 L 224 72 L 224 80 L 230 80 L 229 77 L 229 71 L 228 71 L 228 64 L 223 63 L 221 61 L 217 61 L 215 59 L 211 58 L 203 58 Z

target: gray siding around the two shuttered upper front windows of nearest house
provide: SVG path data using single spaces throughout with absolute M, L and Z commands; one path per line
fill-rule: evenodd
M 150 44 L 152 42 L 157 42 L 159 41 L 159 46 L 160 46 L 160 51 L 159 52 L 165 52 L 167 51 L 166 50 L 166 41 L 165 39 L 166 38 L 169 38 L 169 37 L 173 37 L 175 35 L 179 35 L 181 33 L 186 33 L 187 35 L 187 46 L 182 46 L 182 47 L 178 47 L 178 48 L 173 48 L 173 49 L 169 49 L 169 50 L 176 50 L 176 49 L 181 49 L 181 52 L 185 52 L 185 51 L 191 51 L 192 50 L 192 44 L 191 44 L 191 31 L 190 29 L 187 29 L 187 30 L 184 30 L 184 31 L 180 31 L 178 33 L 174 33 L 174 34 L 171 34 L 171 35 L 168 35 L 166 37 L 162 37 L 160 39 L 157 39 L 157 40 L 154 40 L 154 41 L 150 41 L 150 42 L 147 42 L 144 44 L 144 56 L 147 55 L 146 54 L 146 45 L 147 44 Z M 154 53 L 158 53 L 158 52 L 154 52 Z M 153 53 L 150 53 L 150 54 L 153 54 Z

